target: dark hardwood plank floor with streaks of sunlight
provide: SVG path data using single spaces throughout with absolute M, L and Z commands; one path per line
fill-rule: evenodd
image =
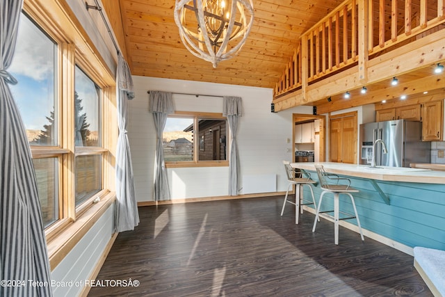
M 283 196 L 140 207 L 88 296 L 432 296 L 413 257 L 305 212 Z

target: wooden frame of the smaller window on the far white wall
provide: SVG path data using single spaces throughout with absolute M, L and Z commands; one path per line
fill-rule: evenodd
M 193 161 L 165 161 L 165 168 L 189 168 L 189 167 L 227 167 L 229 166 L 230 154 L 230 129 L 227 117 L 223 113 L 207 113 L 195 111 L 175 111 L 168 115 L 168 118 L 191 118 L 193 119 L 193 127 L 199 127 L 199 120 L 225 120 L 226 123 L 226 158 L 225 160 L 199 160 L 200 153 L 200 137 L 199 131 L 193 129 Z

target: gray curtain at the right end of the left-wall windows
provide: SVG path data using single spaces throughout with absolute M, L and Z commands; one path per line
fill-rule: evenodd
M 134 191 L 133 166 L 127 136 L 128 99 L 133 99 L 133 79 L 122 54 L 118 54 L 118 148 L 116 152 L 116 231 L 133 230 L 139 225 L 138 202 Z

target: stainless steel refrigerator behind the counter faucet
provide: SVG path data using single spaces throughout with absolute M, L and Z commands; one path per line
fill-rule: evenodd
M 387 154 L 382 151 L 385 142 Z M 430 163 L 431 143 L 422 140 L 421 122 L 389 120 L 360 125 L 360 163 L 370 164 L 375 149 L 375 165 L 410 167 L 410 163 Z

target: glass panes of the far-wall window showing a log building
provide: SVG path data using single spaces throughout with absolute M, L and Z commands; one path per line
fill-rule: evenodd
M 218 113 L 170 115 L 163 131 L 163 150 L 170 164 L 226 161 L 227 120 Z

